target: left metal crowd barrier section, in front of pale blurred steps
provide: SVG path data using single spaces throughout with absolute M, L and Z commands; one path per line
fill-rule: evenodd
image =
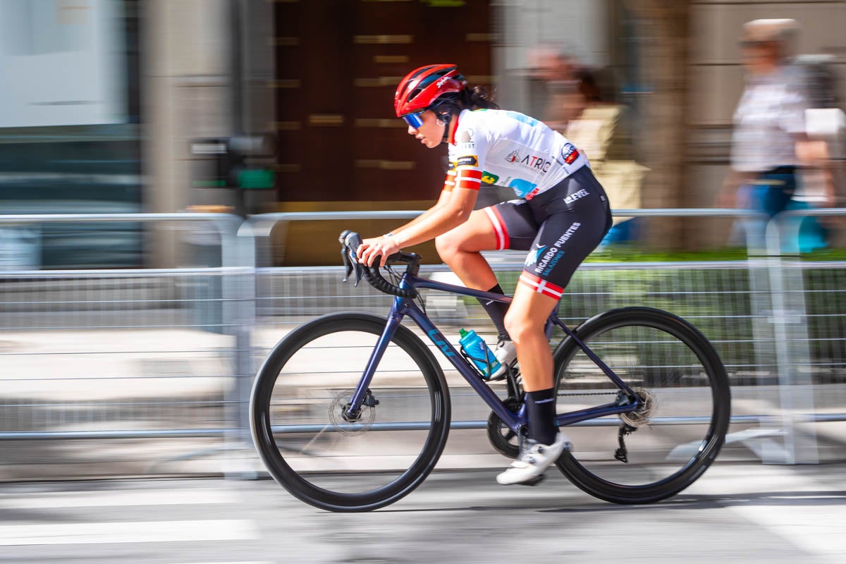
M 0 228 L 93 222 L 156 224 L 211 266 L 0 271 L 0 479 L 100 466 L 143 474 L 185 455 L 175 437 L 190 438 L 191 448 L 241 440 L 233 376 L 251 376 L 235 370 L 249 356 L 239 311 L 246 271 L 235 249 L 241 219 L 0 216 Z M 168 464 L 155 471 L 168 473 Z

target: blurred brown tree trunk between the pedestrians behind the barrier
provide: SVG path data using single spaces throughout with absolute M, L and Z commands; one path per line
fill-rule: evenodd
M 645 208 L 685 207 L 685 145 L 687 141 L 690 0 L 623 0 L 644 21 L 644 74 L 651 85 L 646 108 L 646 131 L 635 142 L 645 144 Z M 662 247 L 684 246 L 683 219 L 648 222 L 649 241 Z

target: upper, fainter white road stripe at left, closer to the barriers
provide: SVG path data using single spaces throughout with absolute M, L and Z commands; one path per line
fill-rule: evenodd
M 61 491 L 37 494 L 0 494 L 0 509 L 48 507 L 118 507 L 239 503 L 233 490 L 113 490 Z

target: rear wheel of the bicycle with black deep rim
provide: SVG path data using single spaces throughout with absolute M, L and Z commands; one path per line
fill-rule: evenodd
M 649 398 L 647 408 L 656 413 L 641 413 L 645 419 L 635 423 L 643 426 L 630 435 L 621 435 L 622 421 L 611 425 L 618 435 L 614 446 L 621 445 L 621 437 L 628 443 L 625 463 L 606 454 L 606 448 L 612 450 L 611 437 L 600 424 L 613 418 L 569 428 L 565 433 L 571 440 L 571 433 L 578 432 L 584 442 L 580 449 L 580 441 L 572 441 L 573 448 L 558 459 L 558 469 L 591 496 L 620 504 L 660 501 L 693 484 L 720 452 L 731 412 L 728 375 L 711 342 L 676 315 L 644 307 L 596 315 L 574 333 L 629 387 Z M 572 337 L 561 342 L 554 359 L 559 411 L 562 397 L 602 393 L 602 386 L 609 393 L 617 389 L 604 374 L 598 377 L 600 369 Z

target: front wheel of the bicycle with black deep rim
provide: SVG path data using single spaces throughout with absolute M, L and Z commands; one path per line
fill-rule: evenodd
M 386 323 L 357 313 L 311 320 L 272 349 L 255 377 L 255 447 L 272 477 L 310 505 L 357 512 L 398 501 L 446 444 L 446 381 L 407 327 L 388 343 L 360 410 L 349 411 Z

